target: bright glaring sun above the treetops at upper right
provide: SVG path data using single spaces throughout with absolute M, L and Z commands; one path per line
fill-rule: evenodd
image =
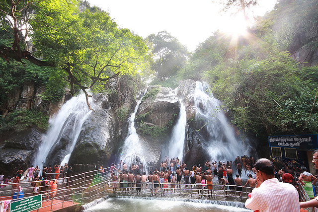
M 223 16 L 220 18 L 219 29 L 233 36 L 245 36 L 247 34 L 248 21 L 243 15 Z

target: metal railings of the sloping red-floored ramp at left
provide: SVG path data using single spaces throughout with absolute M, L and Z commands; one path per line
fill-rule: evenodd
M 115 165 L 115 168 L 119 169 L 120 164 Z M 63 208 L 66 202 L 74 204 L 75 202 L 82 202 L 84 199 L 95 198 L 101 194 L 104 195 L 104 192 L 112 191 L 112 189 L 108 187 L 108 182 L 110 181 L 110 176 L 113 171 L 116 170 L 111 170 L 111 167 L 107 167 L 74 176 L 58 178 L 57 190 L 52 190 L 49 185 L 49 182 L 55 179 L 47 180 L 45 186 L 39 187 L 39 192 L 34 192 L 35 186 L 31 186 L 31 183 L 36 184 L 41 181 L 1 184 L 1 186 L 5 186 L 5 188 L 0 189 L 0 201 L 12 199 L 14 199 L 14 201 L 22 200 L 33 195 L 42 194 L 43 202 L 51 202 L 51 204 L 46 204 L 46 206 L 42 208 L 49 207 L 52 210 L 53 206 L 58 204 L 62 204 Z M 53 174 L 54 173 L 52 173 L 52 175 Z M 8 187 L 14 186 L 21 186 L 23 193 L 18 191 L 18 189 L 8 189 Z M 14 194 L 14 192 L 16 193 Z M 20 195 L 23 195 L 23 197 L 19 198 Z

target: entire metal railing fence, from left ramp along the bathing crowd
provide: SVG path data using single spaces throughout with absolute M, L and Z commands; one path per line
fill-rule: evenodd
M 120 168 L 120 165 L 115 166 L 116 169 Z M 103 169 L 105 172 L 101 173 L 101 170 L 94 170 L 71 177 L 59 178 L 57 183 L 57 190 L 52 190 L 49 185 L 45 185 L 48 188 L 47 191 L 39 191 L 42 194 L 43 201 L 46 201 L 49 204 L 46 204 L 42 208 L 48 208 L 52 210 L 53 206 L 62 204 L 62 208 L 66 203 L 75 204 L 76 202 L 82 203 L 85 199 L 97 199 L 99 197 L 105 196 L 105 193 L 115 192 L 116 195 L 155 195 L 155 188 L 152 182 L 147 184 L 128 182 L 130 187 L 126 187 L 125 184 L 119 182 L 115 183 L 111 180 L 112 170 L 110 167 Z M 118 174 L 118 173 L 117 173 Z M 49 182 L 49 180 L 48 180 Z M 30 187 L 27 184 L 31 182 L 20 182 L 17 184 L 2 184 L 1 186 L 14 186 L 20 185 L 23 189 L 23 198 L 36 195 L 34 193 L 34 187 Z M 33 183 L 36 183 L 33 182 Z M 247 199 L 248 193 L 251 192 L 253 188 L 250 187 L 241 187 L 236 185 L 207 185 L 207 184 L 170 184 L 167 183 L 168 188 L 163 188 L 164 184 L 160 184 L 158 190 L 156 188 L 156 195 L 165 197 L 183 197 L 183 198 L 242 198 Z M 153 190 L 151 191 L 150 186 Z M 175 188 L 173 188 L 173 186 Z M 199 187 L 197 187 L 199 186 Z M 200 186 L 204 186 L 205 189 Z M 208 186 L 211 186 L 211 189 L 207 189 Z M 42 186 L 44 187 L 44 186 Z M 41 187 L 40 187 L 41 188 Z M 140 191 L 139 191 L 140 188 Z M 231 189 L 229 189 L 231 188 Z M 242 189 L 242 191 L 240 191 Z M 209 191 L 209 192 L 208 192 Z M 12 195 L 13 192 L 17 192 L 17 189 L 5 189 L 0 191 L 0 209 L 3 207 L 1 200 L 10 200 L 13 197 L 17 197 L 17 200 L 23 199 L 19 198 L 19 193 Z M 201 194 L 202 193 L 202 194 Z M 304 188 L 300 185 L 301 200 L 308 201 L 310 198 L 307 196 Z M 21 194 L 21 193 L 20 193 Z M 309 209 L 308 211 L 314 212 L 314 209 Z M 2 212 L 0 210 L 0 212 Z

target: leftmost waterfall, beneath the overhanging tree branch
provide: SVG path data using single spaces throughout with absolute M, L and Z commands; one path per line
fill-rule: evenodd
M 92 105 L 92 103 L 90 104 Z M 38 165 L 42 170 L 43 163 L 48 165 L 54 162 L 46 161 L 52 154 L 59 156 L 59 164 L 67 163 L 79 137 L 81 126 L 91 112 L 87 107 L 84 94 L 67 101 L 59 112 L 50 118 L 49 130 L 41 142 L 33 164 Z M 59 144 L 61 140 L 68 141 L 68 143 L 63 144 L 62 150 L 56 149 L 58 152 L 55 152 L 55 148 L 61 145 Z

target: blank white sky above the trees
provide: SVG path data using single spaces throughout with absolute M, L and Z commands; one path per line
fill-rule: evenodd
M 214 1 L 214 2 L 213 2 Z M 167 31 L 193 52 L 213 32 L 233 33 L 246 28 L 242 16 L 220 12 L 220 0 L 88 0 L 109 12 L 119 27 L 128 28 L 139 36 Z M 277 0 L 259 0 L 254 15 L 264 15 Z

